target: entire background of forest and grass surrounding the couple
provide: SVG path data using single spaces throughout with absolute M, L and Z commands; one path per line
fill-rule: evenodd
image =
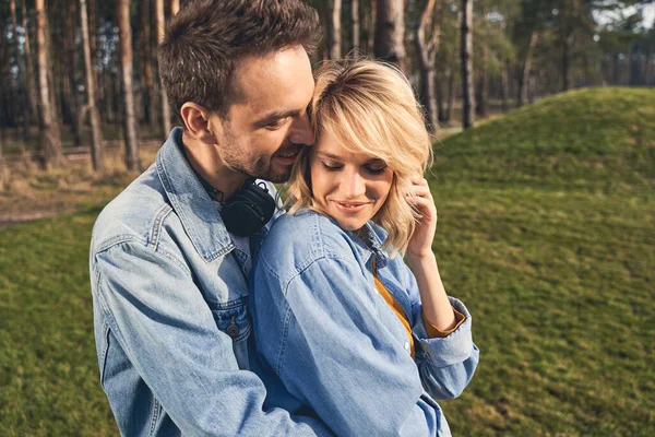
M 176 123 L 156 47 L 184 3 L 0 0 L 0 435 L 117 434 L 88 241 Z M 455 435 L 655 435 L 655 4 L 311 3 L 314 64 L 395 62 L 426 109 L 433 248 L 483 351 Z

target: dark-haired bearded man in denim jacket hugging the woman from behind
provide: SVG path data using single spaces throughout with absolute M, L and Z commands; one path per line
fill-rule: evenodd
M 159 71 L 184 128 L 103 211 L 91 247 L 100 380 L 122 435 L 329 434 L 264 410 L 263 383 L 242 370 L 266 228 L 246 238 L 219 212 L 251 177 L 286 180 L 313 142 L 318 29 L 301 0 L 199 0 L 167 28 Z

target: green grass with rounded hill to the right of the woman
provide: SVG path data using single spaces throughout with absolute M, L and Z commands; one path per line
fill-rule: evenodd
M 436 154 L 434 250 L 481 350 L 455 435 L 655 435 L 655 90 L 558 95 Z

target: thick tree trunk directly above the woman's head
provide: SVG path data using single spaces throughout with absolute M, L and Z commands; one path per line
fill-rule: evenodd
M 404 7 L 403 0 L 378 0 L 373 54 L 406 72 Z

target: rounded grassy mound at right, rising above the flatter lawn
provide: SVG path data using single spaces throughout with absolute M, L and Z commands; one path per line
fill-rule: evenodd
M 438 146 L 442 179 L 653 188 L 655 90 L 587 88 L 546 98 Z

